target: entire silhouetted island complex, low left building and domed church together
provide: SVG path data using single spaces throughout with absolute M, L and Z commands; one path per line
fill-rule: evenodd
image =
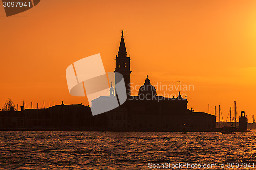
M 187 97 L 166 98 L 158 96 L 156 88 L 146 76 L 138 95 L 132 96 L 130 56 L 124 43 L 122 30 L 118 56 L 115 58 L 114 72 L 123 75 L 127 100 L 121 106 L 99 115 L 92 116 L 91 108 L 84 105 L 55 105 L 43 109 L 1 111 L 1 130 L 83 130 L 83 131 L 209 131 L 215 128 L 214 115 L 187 109 Z M 111 83 L 109 96 L 92 100 L 92 108 L 97 102 L 107 108 L 115 100 L 115 87 Z

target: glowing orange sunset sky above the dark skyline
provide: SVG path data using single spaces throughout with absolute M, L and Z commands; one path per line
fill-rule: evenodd
M 194 85 L 182 91 L 188 109 L 221 105 L 226 120 L 236 100 L 248 122 L 256 115 L 256 1 L 42 0 L 10 17 L 0 7 L 0 23 L 1 107 L 8 98 L 26 108 L 88 104 L 69 94 L 65 70 L 100 53 L 113 72 L 123 29 L 134 85 L 146 75 L 153 85 L 181 81 Z

